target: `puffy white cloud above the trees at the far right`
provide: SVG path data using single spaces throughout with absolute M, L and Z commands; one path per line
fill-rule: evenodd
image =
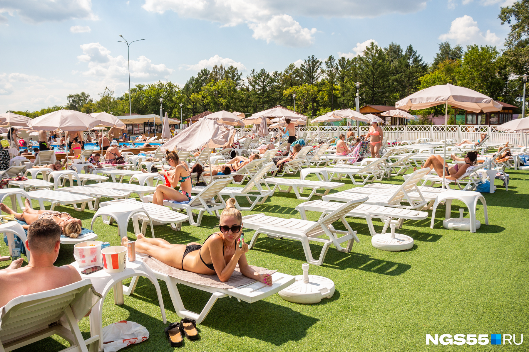
M 439 39 L 442 41 L 451 40 L 458 44 L 501 44 L 501 39 L 490 30 L 484 34 L 478 27 L 478 23 L 469 15 L 455 18 L 450 26 L 450 31 L 441 34 Z

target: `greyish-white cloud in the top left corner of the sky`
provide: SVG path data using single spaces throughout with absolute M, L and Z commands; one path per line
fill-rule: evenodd
M 63 21 L 79 18 L 97 20 L 91 0 L 2 0 L 0 13 L 18 14 L 26 23 Z M 5 17 L 4 17 L 5 18 Z M 0 23 L 2 18 L 0 18 Z

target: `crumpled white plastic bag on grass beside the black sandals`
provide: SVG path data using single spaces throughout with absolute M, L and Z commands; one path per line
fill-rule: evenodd
M 122 320 L 103 328 L 103 350 L 114 352 L 149 338 L 149 331 L 134 321 Z

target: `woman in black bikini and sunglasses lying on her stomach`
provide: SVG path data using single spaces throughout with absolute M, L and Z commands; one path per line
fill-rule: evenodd
M 255 272 L 246 260 L 248 244 L 242 240 L 241 212 L 235 209 L 235 199 L 226 201 L 226 208 L 221 214 L 218 232 L 209 235 L 204 244 L 196 242 L 184 244 L 171 244 L 162 239 L 150 239 L 142 234 L 136 240 L 136 251 L 145 253 L 171 267 L 195 272 L 197 274 L 217 274 L 222 282 L 230 279 L 235 265 L 239 263 L 241 273 L 248 278 L 259 280 L 272 286 L 269 274 L 260 275 Z M 123 237 L 122 244 L 129 241 Z

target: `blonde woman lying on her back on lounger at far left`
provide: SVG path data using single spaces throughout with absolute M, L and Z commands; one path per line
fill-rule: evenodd
M 83 230 L 81 220 L 78 218 L 71 217 L 68 213 L 59 213 L 53 210 L 34 210 L 31 208 L 29 199 L 26 199 L 25 208 L 22 213 L 15 213 L 4 203 L 0 203 L 0 210 L 7 214 L 14 215 L 16 220 L 25 221 L 27 225 L 22 225 L 22 227 L 26 230 L 29 229 L 34 221 L 39 219 L 53 220 L 61 227 L 62 233 L 72 239 L 79 237 L 81 230 Z

